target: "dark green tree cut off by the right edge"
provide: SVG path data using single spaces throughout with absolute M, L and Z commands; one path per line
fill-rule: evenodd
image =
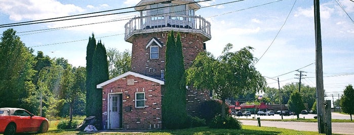
M 340 107 L 343 112 L 348 113 L 350 115 L 350 120 L 352 120 L 351 114 L 354 114 L 354 89 L 351 84 L 345 87 L 344 95 L 340 99 Z

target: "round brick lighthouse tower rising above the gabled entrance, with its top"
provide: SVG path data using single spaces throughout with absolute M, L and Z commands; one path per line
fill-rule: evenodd
M 168 33 L 181 35 L 184 67 L 205 50 L 211 39 L 210 23 L 195 11 L 201 6 L 193 0 L 142 0 L 135 10 L 139 17 L 125 25 L 125 41 L 132 43 L 131 71 L 164 80 Z

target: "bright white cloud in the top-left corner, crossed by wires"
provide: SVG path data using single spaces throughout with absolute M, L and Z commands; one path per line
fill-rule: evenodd
M 84 11 L 82 8 L 75 5 L 63 5 L 54 0 L 3 0 L 0 1 L 0 5 L 2 5 L 1 11 L 8 14 L 10 19 L 14 21 L 62 17 Z

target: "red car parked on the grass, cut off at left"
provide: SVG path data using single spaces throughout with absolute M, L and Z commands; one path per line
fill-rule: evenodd
M 47 132 L 48 119 L 21 108 L 0 108 L 0 133 Z

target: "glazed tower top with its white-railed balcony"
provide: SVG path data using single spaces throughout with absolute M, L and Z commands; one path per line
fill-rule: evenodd
M 200 7 L 194 0 L 142 0 L 135 8 L 140 16 L 125 25 L 124 40 L 132 43 L 135 34 L 174 30 L 196 34 L 204 42 L 208 41 L 211 39 L 210 22 L 195 16 Z

